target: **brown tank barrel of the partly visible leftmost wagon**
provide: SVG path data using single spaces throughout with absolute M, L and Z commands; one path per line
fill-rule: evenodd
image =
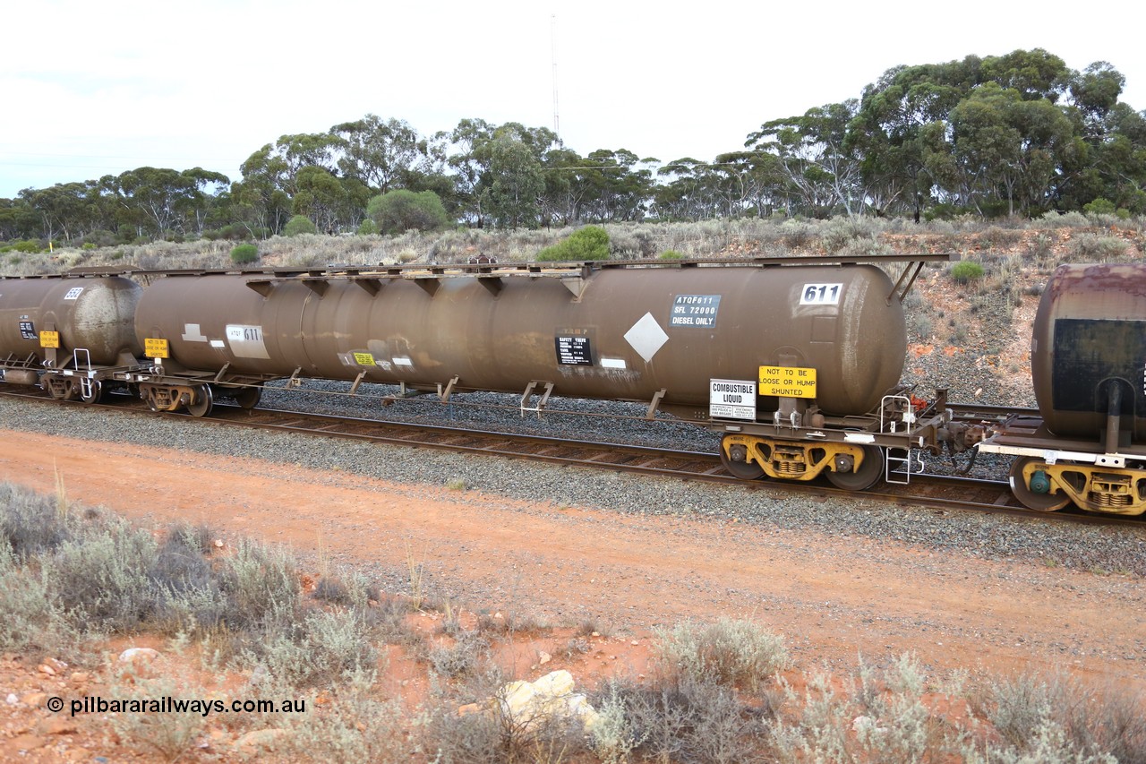
M 40 332 L 60 335 L 58 354 L 87 350 L 91 362 L 112 366 L 120 353 L 140 354 L 135 305 L 141 288 L 121 276 L 5 279 L 0 282 L 0 353 L 41 364 Z M 85 361 L 87 358 L 85 357 Z

